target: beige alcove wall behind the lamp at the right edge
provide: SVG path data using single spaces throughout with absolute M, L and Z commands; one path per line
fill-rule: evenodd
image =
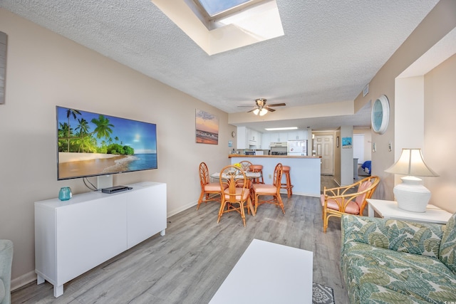
M 456 54 L 425 75 L 426 164 L 440 177 L 427 177 L 430 204 L 456 212 Z

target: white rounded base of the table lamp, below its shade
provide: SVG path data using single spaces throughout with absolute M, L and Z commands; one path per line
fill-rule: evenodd
M 413 212 L 425 212 L 430 199 L 430 191 L 423 186 L 418 177 L 402 177 L 402 183 L 394 187 L 393 192 L 398 207 Z

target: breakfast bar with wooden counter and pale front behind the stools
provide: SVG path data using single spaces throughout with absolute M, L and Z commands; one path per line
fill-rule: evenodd
M 284 166 L 291 167 L 290 178 L 294 194 L 320 197 L 321 157 L 229 154 L 229 158 L 231 164 L 243 160 L 248 160 L 252 164 L 261 164 L 263 166 L 263 179 L 266 184 L 272 184 L 274 168 L 280 162 Z M 282 182 L 284 182 L 284 177 L 282 177 Z

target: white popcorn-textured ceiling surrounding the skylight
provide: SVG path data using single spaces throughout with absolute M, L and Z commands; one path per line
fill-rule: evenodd
M 233 113 L 256 98 L 286 108 L 354 100 L 437 0 L 276 3 L 284 36 L 213 56 L 149 0 L 0 0 L 0 7 Z M 300 124 L 368 126 L 369 111 Z

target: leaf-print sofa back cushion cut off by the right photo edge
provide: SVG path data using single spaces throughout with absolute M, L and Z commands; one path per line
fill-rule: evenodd
M 456 214 L 444 226 L 442 242 L 440 243 L 439 258 L 456 274 Z

